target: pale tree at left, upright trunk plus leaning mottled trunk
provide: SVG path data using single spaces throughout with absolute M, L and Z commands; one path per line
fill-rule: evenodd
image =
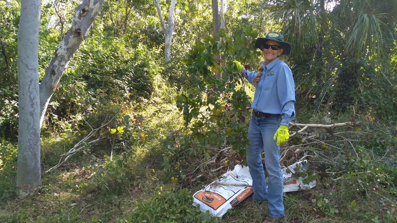
M 46 108 L 67 64 L 85 39 L 104 0 L 84 0 L 39 85 L 40 0 L 22 0 L 18 30 L 18 165 L 19 196 L 35 193 L 41 184 L 40 128 Z

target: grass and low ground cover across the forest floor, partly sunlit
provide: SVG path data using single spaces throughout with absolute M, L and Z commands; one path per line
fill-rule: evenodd
M 164 167 L 167 148 L 159 140 L 172 141 L 173 133 L 182 127 L 183 120 L 172 102 L 152 106 L 135 113 L 135 126 L 128 129 L 124 138 L 106 141 L 92 148 L 90 153 L 73 156 L 62 168 L 44 174 L 38 193 L 25 199 L 16 198 L 14 193 L 16 145 L 2 139 L 0 222 L 262 222 L 268 213 L 267 202 L 246 200 L 222 219 L 209 217 L 192 205 L 192 195 L 201 185 L 179 186 L 180 176 L 175 169 Z M 397 222 L 395 160 L 385 165 L 372 160 L 382 156 L 385 149 L 390 148 L 388 146 L 393 146 L 395 136 L 389 135 L 385 140 L 388 141 L 362 142 L 358 150 L 361 159 L 350 161 L 346 158 L 350 169 L 339 175 L 340 180 L 318 179 L 317 185 L 310 190 L 286 193 L 284 222 L 382 222 L 381 212 L 384 222 Z M 59 155 L 77 141 L 44 138 L 42 169 L 55 165 Z M 112 146 L 114 154 L 110 161 Z M 393 158 L 393 153 L 394 147 L 388 157 Z M 93 162 L 87 161 L 84 165 L 82 161 L 86 160 Z M 177 183 L 171 181 L 173 176 L 179 178 Z M 378 185 L 381 190 L 371 191 L 376 179 L 381 179 L 385 185 Z M 209 180 L 203 179 L 203 183 Z

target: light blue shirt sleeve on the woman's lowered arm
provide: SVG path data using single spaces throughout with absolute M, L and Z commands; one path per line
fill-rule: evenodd
M 295 83 L 288 65 L 280 67 L 277 93 L 281 104 L 281 125 L 289 125 L 295 119 Z

